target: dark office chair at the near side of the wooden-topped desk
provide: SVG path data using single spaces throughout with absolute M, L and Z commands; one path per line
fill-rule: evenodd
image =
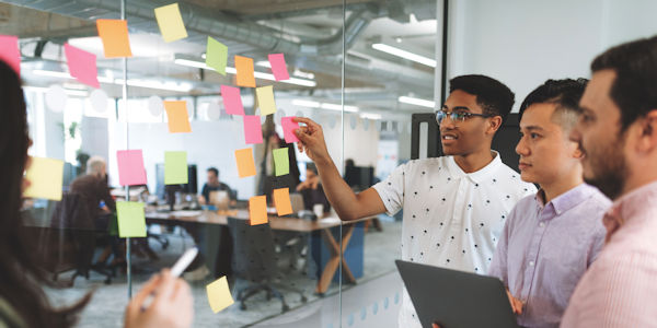
M 269 224 L 249 225 L 246 220 L 229 218 L 228 226 L 233 245 L 232 272 L 238 280 L 246 282 L 246 286 L 241 289 L 235 283 L 235 301 L 240 303 L 240 309 L 246 309 L 246 300 L 264 291 L 267 293 L 267 301 L 274 296 L 280 300 L 281 311 L 288 311 L 285 297 L 274 288 L 275 284 L 278 285 L 275 280 L 283 280 L 283 276 L 278 272 L 278 258 Z M 295 292 L 301 295 L 301 302 L 307 302 L 302 292 Z

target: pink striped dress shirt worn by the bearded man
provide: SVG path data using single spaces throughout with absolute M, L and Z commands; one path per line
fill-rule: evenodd
M 618 199 L 603 223 L 607 244 L 561 327 L 657 327 L 657 181 Z

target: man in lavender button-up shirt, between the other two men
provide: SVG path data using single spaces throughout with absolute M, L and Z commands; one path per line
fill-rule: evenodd
M 509 213 L 488 274 L 507 286 L 522 327 L 558 327 L 604 244 L 611 201 L 583 181 L 584 153 L 568 140 L 585 87 L 583 79 L 549 80 L 520 106 L 520 177 L 541 189 Z

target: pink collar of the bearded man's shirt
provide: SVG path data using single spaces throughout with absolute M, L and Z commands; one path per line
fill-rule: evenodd
M 657 201 L 657 181 L 638 187 L 616 199 L 604 214 L 602 222 L 607 227 L 607 241 L 626 221 L 648 210 Z

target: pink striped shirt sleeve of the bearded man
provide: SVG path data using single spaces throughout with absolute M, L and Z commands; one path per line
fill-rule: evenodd
M 657 258 L 645 251 L 598 259 L 580 281 L 562 327 L 653 327 Z

